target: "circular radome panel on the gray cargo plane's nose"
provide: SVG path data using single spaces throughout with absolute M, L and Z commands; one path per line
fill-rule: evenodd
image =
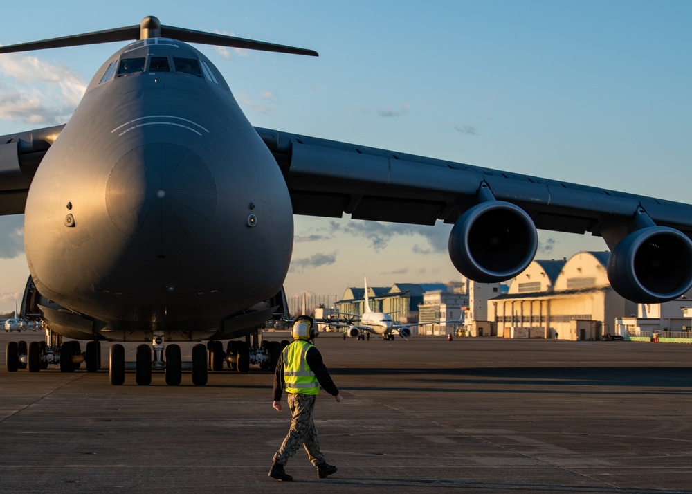
M 111 170 L 106 208 L 125 235 L 174 242 L 208 226 L 217 205 L 214 176 L 197 154 L 171 143 L 127 152 Z

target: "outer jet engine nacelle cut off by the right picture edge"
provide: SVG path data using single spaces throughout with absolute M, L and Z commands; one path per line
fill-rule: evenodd
M 632 302 L 678 298 L 692 286 L 692 241 L 665 226 L 632 232 L 610 253 L 608 280 L 614 291 Z

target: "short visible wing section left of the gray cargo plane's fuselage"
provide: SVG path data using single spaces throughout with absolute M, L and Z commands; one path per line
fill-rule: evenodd
M 63 127 L 0 136 L 0 215 L 24 213 L 29 185 Z

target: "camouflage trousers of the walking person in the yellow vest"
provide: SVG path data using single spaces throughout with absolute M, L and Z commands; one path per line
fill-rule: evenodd
M 292 414 L 291 428 L 281 448 L 274 453 L 274 462 L 286 465 L 302 444 L 312 464 L 318 466 L 325 462 L 325 455 L 320 452 L 320 441 L 317 439 L 317 429 L 313 420 L 317 395 L 300 393 L 288 393 L 288 395 L 289 409 Z

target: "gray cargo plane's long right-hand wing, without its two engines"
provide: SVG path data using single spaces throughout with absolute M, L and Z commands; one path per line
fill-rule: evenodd
M 494 199 L 525 210 L 539 229 L 603 235 L 643 208 L 657 226 L 692 237 L 689 204 L 255 129 L 284 172 L 295 214 L 342 217 L 346 213 L 354 219 L 421 225 L 437 220 L 455 223 L 477 204 L 486 183 Z

